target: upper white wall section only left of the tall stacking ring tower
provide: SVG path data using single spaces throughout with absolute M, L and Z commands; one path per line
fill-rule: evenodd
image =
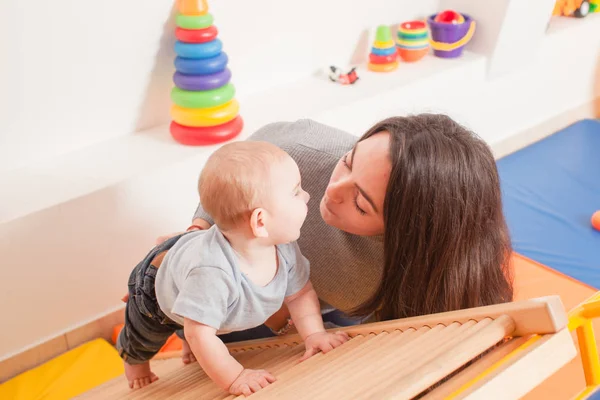
M 164 121 L 171 12 L 170 1 L 0 2 L 0 171 Z

